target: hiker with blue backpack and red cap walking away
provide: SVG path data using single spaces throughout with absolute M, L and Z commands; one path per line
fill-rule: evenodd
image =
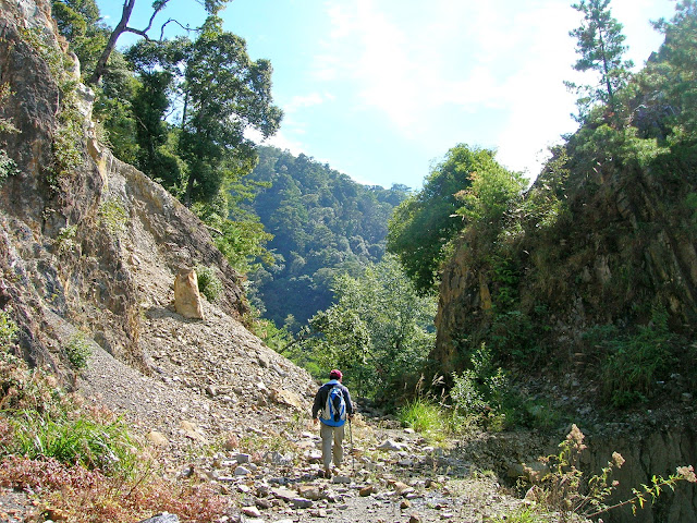
M 322 438 L 322 463 L 325 477 L 331 477 L 332 442 L 334 466 L 341 466 L 344 458 L 341 447 L 344 440 L 344 424 L 351 421 L 354 409 L 348 389 L 341 384 L 341 370 L 335 368 L 329 373 L 329 381 L 322 385 L 315 394 L 313 422 L 321 422 L 319 435 Z

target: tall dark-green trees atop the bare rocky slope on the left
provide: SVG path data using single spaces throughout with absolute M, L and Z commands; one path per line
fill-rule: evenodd
M 159 12 L 167 1 L 156 3 Z M 211 15 L 224 4 L 205 3 Z M 85 61 L 85 73 L 93 73 L 111 34 L 96 3 L 53 4 L 61 33 Z M 247 272 L 256 267 L 256 258 L 271 258 L 264 247 L 270 235 L 240 207 L 250 194 L 243 178 L 256 160 L 254 144 L 244 133 L 255 129 L 265 137 L 272 135 L 282 113 L 271 104 L 268 61 L 249 60 L 244 40 L 222 31 L 216 16 L 196 34 L 193 41 L 143 39 L 126 51 L 127 61 L 111 52 L 107 69 L 99 71 L 95 117 L 101 119 L 105 138 L 119 158 L 140 168 L 187 206 L 197 204 L 196 214 L 219 232 L 217 246 L 233 267 Z M 179 124 L 173 107 L 182 109 Z M 49 181 L 54 187 L 80 159 L 77 149 L 70 147 L 76 131 L 71 121 L 57 133 L 57 172 Z

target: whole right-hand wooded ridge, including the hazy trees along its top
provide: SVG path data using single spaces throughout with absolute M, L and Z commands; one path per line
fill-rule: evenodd
M 611 416 L 648 405 L 695 416 L 697 5 L 657 26 L 661 49 L 582 99 L 579 130 L 528 191 L 492 205 L 480 180 L 463 190 L 438 372 L 467 368 L 484 344 L 523 382 L 552 382 Z M 490 192 L 499 183 L 479 174 Z

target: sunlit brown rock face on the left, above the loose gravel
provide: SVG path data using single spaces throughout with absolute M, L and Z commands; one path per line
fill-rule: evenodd
M 201 222 L 160 185 L 115 159 L 94 137 L 91 93 L 74 85 L 78 64 L 66 56 L 48 0 L 0 0 L 0 82 L 11 95 L 0 118 L 19 132 L 0 135 L 16 163 L 0 185 L 0 305 L 12 307 L 20 345 L 32 364 L 70 373 L 46 314 L 90 332 L 110 354 L 147 367 L 140 342 L 144 313 L 173 300 L 181 267 L 216 266 L 218 306 L 247 312 L 241 276 Z M 53 65 L 50 65 L 53 63 Z M 70 61 L 69 61 L 70 63 Z M 63 115 L 81 114 L 66 131 Z M 57 153 L 64 147 L 76 160 Z

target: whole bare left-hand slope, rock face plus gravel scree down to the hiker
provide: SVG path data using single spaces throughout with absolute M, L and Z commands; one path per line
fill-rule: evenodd
M 0 186 L 0 306 L 22 356 L 175 449 L 192 438 L 184 421 L 212 439 L 307 410 L 310 376 L 245 328 L 243 278 L 204 224 L 96 139 L 93 96 L 50 2 L 0 9 L 0 118 L 15 127 L 0 135 L 14 163 Z M 198 264 L 223 290 L 205 320 L 187 320 L 172 285 Z M 70 364 L 76 340 L 91 350 L 83 372 Z

